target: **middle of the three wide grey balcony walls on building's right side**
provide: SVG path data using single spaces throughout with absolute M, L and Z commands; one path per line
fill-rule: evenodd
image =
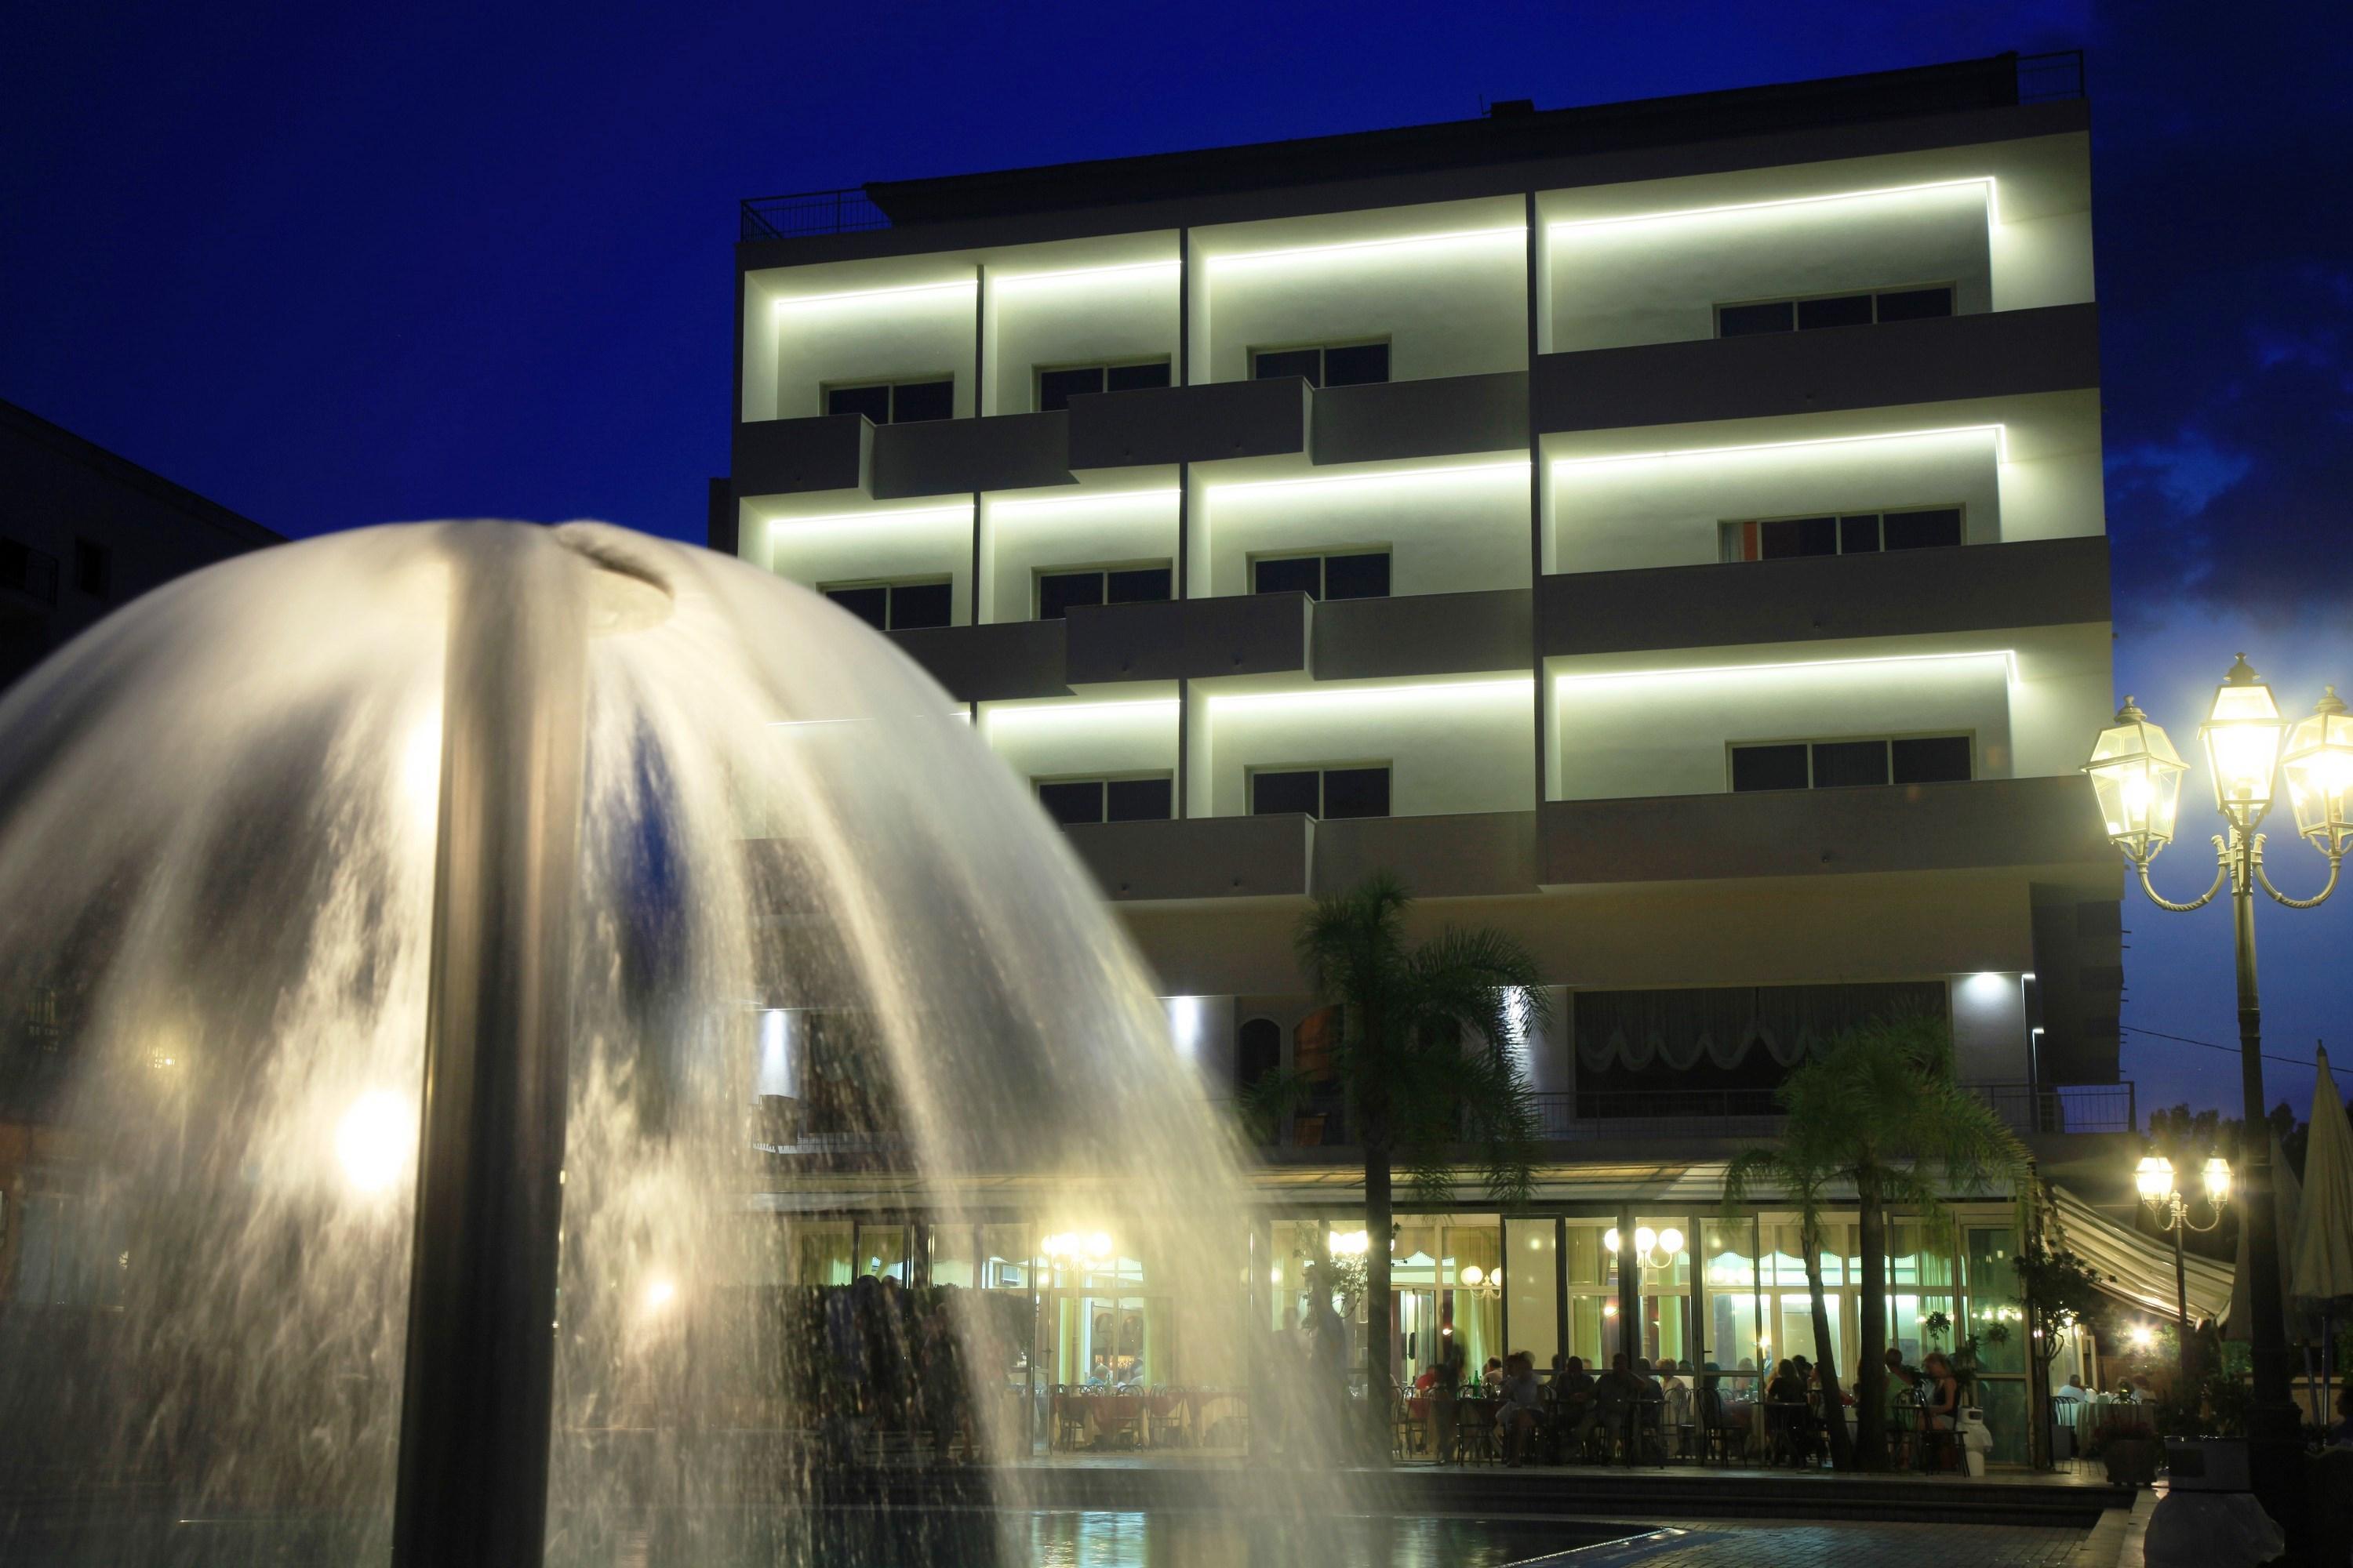
M 1539 607 L 1546 658 L 2078 625 L 2108 621 L 2108 541 L 1565 571 Z

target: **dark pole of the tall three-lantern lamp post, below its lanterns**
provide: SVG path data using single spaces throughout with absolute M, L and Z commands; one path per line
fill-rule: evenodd
M 2264 1512 L 2287 1533 L 2289 1556 L 2304 1540 L 2301 1413 L 2289 1396 L 2287 1321 L 2280 1300 L 2278 1211 L 2271 1199 L 2271 1126 L 2264 1117 L 2264 1001 L 2254 978 L 2254 839 L 2231 830 L 2231 917 L 2238 926 L 2238 1081 L 2240 1166 L 2247 1204 L 2247 1326 L 2254 1359 L 2254 1406 L 2247 1410 L 2247 1458 Z

